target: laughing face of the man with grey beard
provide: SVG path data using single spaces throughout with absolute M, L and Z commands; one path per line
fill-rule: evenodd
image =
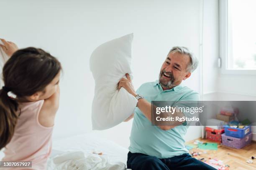
M 159 83 L 163 90 L 172 89 L 186 80 L 191 73 L 187 72 L 190 57 L 179 52 L 171 52 L 166 57 L 159 74 Z

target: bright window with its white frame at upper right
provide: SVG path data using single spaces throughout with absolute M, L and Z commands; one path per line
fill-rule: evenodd
M 224 73 L 256 74 L 256 0 L 220 0 Z

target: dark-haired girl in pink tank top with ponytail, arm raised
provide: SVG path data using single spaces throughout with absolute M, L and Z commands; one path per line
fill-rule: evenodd
M 7 54 L 13 50 L 10 43 L 1 45 Z M 55 57 L 34 47 L 17 50 L 5 63 L 5 85 L 0 90 L 2 161 L 32 161 L 32 169 L 46 170 L 59 107 L 60 71 Z

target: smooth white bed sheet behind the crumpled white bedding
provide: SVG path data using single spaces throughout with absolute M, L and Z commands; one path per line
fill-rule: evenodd
M 93 133 L 61 138 L 53 140 L 52 153 L 48 161 L 48 170 L 54 168 L 52 158 L 67 151 L 82 151 L 84 153 L 102 152 L 103 155 L 108 155 L 110 163 L 121 162 L 125 165 L 129 152 L 127 148 Z

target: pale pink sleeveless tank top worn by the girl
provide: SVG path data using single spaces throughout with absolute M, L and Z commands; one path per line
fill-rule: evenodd
M 32 161 L 33 170 L 46 170 L 53 127 L 46 128 L 38 122 L 43 104 L 44 100 L 19 103 L 21 113 L 13 138 L 5 147 L 3 161 Z

